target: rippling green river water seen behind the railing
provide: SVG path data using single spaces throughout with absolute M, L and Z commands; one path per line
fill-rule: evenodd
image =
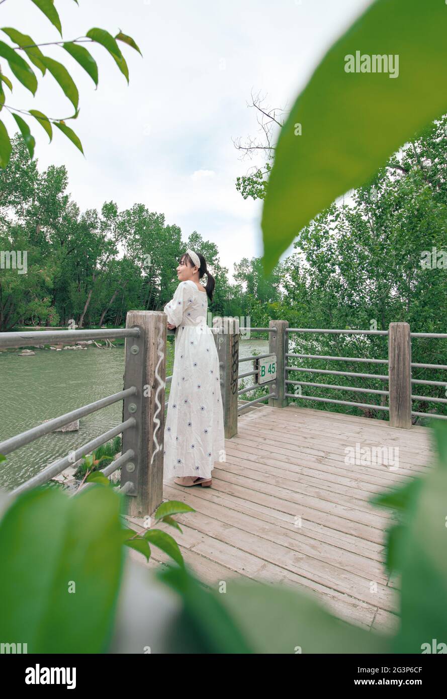
M 240 357 L 254 354 L 255 350 L 258 354 L 268 352 L 268 341 L 241 340 Z M 122 391 L 124 346 L 112 349 L 89 346 L 87 350 L 64 349 L 62 352 L 34 349 L 34 356 L 19 356 L 19 352 L 21 350 L 17 349 L 0 354 L 0 441 L 35 427 L 45 419 Z M 173 345 L 168 345 L 166 361 L 166 375 L 169 376 L 173 373 Z M 248 365 L 251 363 L 244 362 L 240 373 L 248 371 Z M 16 487 L 47 463 L 66 456 L 71 449 L 121 421 L 122 403 L 119 402 L 82 417 L 78 431 L 53 432 L 17 449 L 0 464 L 0 488 Z

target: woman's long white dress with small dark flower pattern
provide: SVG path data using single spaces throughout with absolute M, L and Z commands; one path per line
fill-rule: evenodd
M 193 280 L 179 282 L 163 310 L 176 326 L 163 477 L 208 479 L 214 462 L 225 459 L 219 355 L 207 325 L 208 296 Z

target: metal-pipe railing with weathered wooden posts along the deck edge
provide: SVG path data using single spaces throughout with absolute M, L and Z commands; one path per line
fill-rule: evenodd
M 447 370 L 447 366 L 431 363 L 411 363 L 411 339 L 412 338 L 443 338 L 447 339 L 447 333 L 410 333 L 406 323 L 390 324 L 389 331 L 362 331 L 362 330 L 337 330 L 337 329 L 303 329 L 288 328 L 288 323 L 282 320 L 270 321 L 268 328 L 250 328 L 251 333 L 269 333 L 269 351 L 263 354 L 253 354 L 239 358 L 240 332 L 235 319 L 230 320 L 228 331 L 212 329 L 219 356 L 219 368 L 221 371 L 221 396 L 223 405 L 223 417 L 226 438 L 231 438 L 237 433 L 237 417 L 245 410 L 253 406 L 260 408 L 259 403 L 268 402 L 271 407 L 284 408 L 289 401 L 315 401 L 316 403 L 332 403 L 365 410 L 381 410 L 389 415 L 392 426 L 411 426 L 411 417 L 439 417 L 446 419 L 445 415 L 433 415 L 431 413 L 416 412 L 411 410 L 414 401 L 430 401 L 432 403 L 447 403 L 447 398 L 437 396 L 417 396 L 411 391 L 413 384 L 424 386 L 436 386 L 447 388 L 447 382 L 413 379 L 412 369 Z M 34 475 L 26 482 L 13 490 L 13 494 L 22 493 L 27 489 L 47 483 L 59 475 L 67 466 L 78 463 L 78 459 L 86 456 L 116 435 L 122 434 L 122 455 L 115 459 L 109 466 L 103 469 L 103 473 L 110 476 L 115 470 L 122 468 L 121 490 L 129 496 L 130 514 L 142 516 L 151 514 L 163 500 L 163 429 L 165 412 L 168 401 L 165 401 L 166 386 L 173 381 L 173 375 L 166 376 L 166 333 L 175 334 L 166 330 L 166 315 L 163 312 L 130 311 L 126 318 L 126 329 L 101 329 L 101 330 L 75 330 L 75 331 L 42 331 L 0 333 L 0 349 L 2 347 L 34 346 L 38 343 L 52 342 L 78 343 L 82 340 L 95 340 L 101 338 L 125 338 L 125 368 L 124 387 L 122 391 L 111 396 L 105 396 L 94 403 L 88 403 L 81 408 L 54 417 L 49 421 L 26 430 L 19 435 L 10 437 L 0 442 L 0 454 L 10 454 L 16 449 L 28 445 L 34 440 L 47 435 L 54 429 L 69 424 L 73 420 L 91 415 L 108 405 L 123 402 L 122 421 L 107 432 L 73 449 L 67 456 L 54 461 Z M 388 359 L 368 359 L 367 357 L 333 356 L 330 354 L 305 354 L 288 352 L 288 338 L 291 333 L 326 333 L 360 336 L 388 337 Z M 155 341 L 154 341 L 155 338 Z M 149 340 L 151 340 L 149 342 Z M 238 383 L 245 377 L 258 378 L 256 363 L 259 359 L 265 359 L 274 355 L 277 364 L 277 373 L 274 378 L 265 384 L 259 384 L 238 388 Z M 319 361 L 344 361 L 357 363 L 370 363 L 376 366 L 386 366 L 387 373 L 361 373 L 353 371 L 337 371 L 329 369 L 316 369 L 309 366 L 289 366 L 289 360 L 319 360 Z M 240 364 L 254 361 L 254 367 L 249 371 L 240 373 Z M 328 384 L 316 381 L 296 381 L 289 379 L 291 372 L 310 373 L 315 375 L 341 376 L 348 378 L 363 378 L 388 382 L 387 389 L 350 386 L 342 384 Z M 297 395 L 289 393 L 287 387 L 300 385 L 300 387 L 328 389 L 330 391 L 352 391 L 356 394 L 380 396 L 381 402 L 388 400 L 388 405 L 376 405 L 374 403 L 357 403 L 356 401 L 344 401 L 338 398 Z M 246 396 L 251 391 L 262 387 L 268 393 L 250 401 L 241 401 L 240 396 Z M 149 393 L 146 394 L 146 389 Z M 145 398 L 145 400 L 143 400 Z M 164 410 L 163 410 L 164 407 Z M 87 487 L 85 484 L 83 488 Z

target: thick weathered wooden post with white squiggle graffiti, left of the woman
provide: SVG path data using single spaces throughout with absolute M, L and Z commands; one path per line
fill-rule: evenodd
M 134 417 L 135 427 L 123 434 L 122 452 L 135 456 L 122 468 L 121 485 L 128 481 L 128 514 L 152 515 L 163 501 L 163 439 L 165 428 L 166 314 L 131 310 L 126 328 L 140 328 L 140 338 L 126 338 L 124 388 L 138 392 L 124 400 L 124 419 Z

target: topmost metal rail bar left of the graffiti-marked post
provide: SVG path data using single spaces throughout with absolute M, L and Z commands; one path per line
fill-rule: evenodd
M 24 333 L 0 333 L 0 347 L 47 345 L 48 343 L 57 342 L 76 343 L 80 340 L 101 340 L 101 338 L 139 337 L 139 328 L 117 328 L 115 330 L 113 328 L 110 330 L 34 330 Z

